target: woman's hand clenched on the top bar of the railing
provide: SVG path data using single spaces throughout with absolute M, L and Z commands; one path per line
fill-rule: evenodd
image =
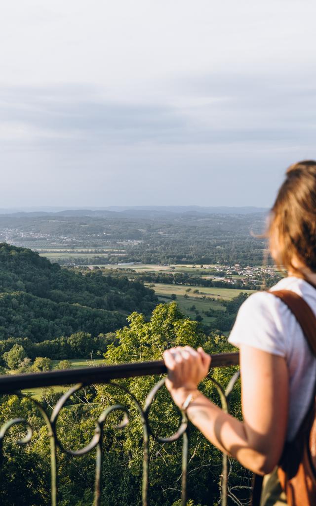
M 211 357 L 202 348 L 176 347 L 163 353 L 168 368 L 166 387 L 178 407 L 182 407 L 190 393 L 209 372 Z

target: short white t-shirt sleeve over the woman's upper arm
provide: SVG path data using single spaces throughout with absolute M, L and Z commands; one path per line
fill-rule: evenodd
M 241 344 L 247 344 L 285 357 L 285 311 L 288 308 L 271 293 L 253 293 L 239 309 L 229 343 L 238 348 Z

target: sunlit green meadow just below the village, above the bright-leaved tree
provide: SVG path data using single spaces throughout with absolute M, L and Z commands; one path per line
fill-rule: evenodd
M 150 283 L 145 284 L 147 284 L 147 286 L 151 286 Z M 182 311 L 191 319 L 196 317 L 196 311 L 194 309 L 190 309 L 192 306 L 195 306 L 195 308 L 201 313 L 203 323 L 205 324 L 210 324 L 214 318 L 206 316 L 202 313 L 202 311 L 208 311 L 209 309 L 224 311 L 225 307 L 221 304 L 222 301 L 230 301 L 234 297 L 237 297 L 241 292 L 250 294 L 254 291 L 204 286 L 190 286 L 190 288 L 191 291 L 186 292 L 188 289 L 188 286 L 186 285 L 157 283 L 153 286 L 153 289 L 161 302 L 171 302 L 170 296 L 174 293 L 176 295 L 176 302 L 179 308 L 182 309 Z M 199 290 L 199 293 L 192 293 L 195 289 Z M 184 297 L 185 294 L 187 294 L 188 298 Z

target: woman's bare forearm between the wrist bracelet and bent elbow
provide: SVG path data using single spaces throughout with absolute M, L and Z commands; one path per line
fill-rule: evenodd
M 228 453 L 257 474 L 273 470 L 277 462 L 267 458 L 265 437 L 247 431 L 245 424 L 197 392 L 186 410 L 190 421 L 219 450 Z

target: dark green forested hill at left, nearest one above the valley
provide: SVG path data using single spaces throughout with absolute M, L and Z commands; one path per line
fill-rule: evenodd
M 132 311 L 149 314 L 156 304 L 142 283 L 101 271 L 74 273 L 30 249 L 0 243 L 0 340 L 40 342 L 78 330 L 95 336 L 126 324 Z

